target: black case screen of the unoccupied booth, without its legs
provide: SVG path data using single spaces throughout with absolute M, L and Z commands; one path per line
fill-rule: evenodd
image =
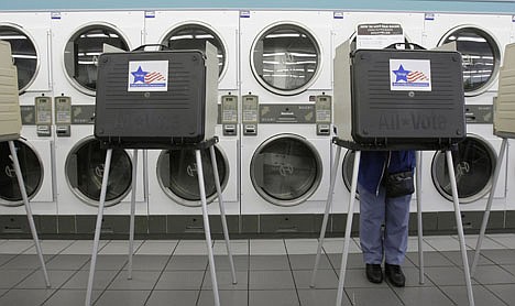
M 201 51 L 105 53 L 95 136 L 103 146 L 165 149 L 215 135 L 218 58 Z

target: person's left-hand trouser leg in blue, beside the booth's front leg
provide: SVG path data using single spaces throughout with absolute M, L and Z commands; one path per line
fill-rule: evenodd
M 360 194 L 360 243 L 363 261 L 368 264 L 383 262 L 383 232 L 385 203 L 384 188 L 375 196 L 358 184 Z

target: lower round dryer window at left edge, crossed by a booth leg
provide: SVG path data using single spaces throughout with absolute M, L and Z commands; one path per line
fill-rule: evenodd
M 14 141 L 18 161 L 20 162 L 23 182 L 25 183 L 29 200 L 32 199 L 43 183 L 43 163 L 37 152 L 29 142 Z M 20 206 L 23 199 L 14 172 L 11 151 L 7 141 L 0 142 L 0 205 Z

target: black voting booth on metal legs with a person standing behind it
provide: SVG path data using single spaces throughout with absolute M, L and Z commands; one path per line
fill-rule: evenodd
M 446 151 L 452 186 L 468 298 L 470 305 L 474 305 L 451 155 L 452 147 L 467 135 L 461 55 L 445 48 L 427 51 L 408 43 L 394 44 L 384 50 L 358 51 L 353 51 L 351 44 L 351 41 L 347 41 L 338 46 L 335 56 L 333 113 L 337 136 L 332 142 L 337 151 L 311 286 L 316 282 L 341 147 L 354 150 L 355 154 L 339 274 L 338 306 L 343 296 L 361 151 L 441 150 Z M 420 168 L 417 160 L 417 168 Z M 417 171 L 417 193 L 420 190 L 419 182 Z M 419 194 L 417 210 L 420 283 L 424 283 Z

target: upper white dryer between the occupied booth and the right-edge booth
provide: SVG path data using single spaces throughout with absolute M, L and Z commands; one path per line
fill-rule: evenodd
M 423 44 L 432 48 L 456 42 L 463 58 L 465 103 L 489 105 L 496 96 L 511 28 L 511 15 L 426 13 Z

